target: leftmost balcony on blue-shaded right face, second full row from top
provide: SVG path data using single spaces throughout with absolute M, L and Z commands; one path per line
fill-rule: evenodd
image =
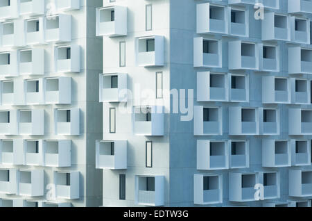
M 222 67 L 221 40 L 194 38 L 194 67 Z

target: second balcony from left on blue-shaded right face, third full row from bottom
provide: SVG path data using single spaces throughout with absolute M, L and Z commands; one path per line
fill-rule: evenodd
M 259 135 L 258 108 L 229 107 L 229 135 Z

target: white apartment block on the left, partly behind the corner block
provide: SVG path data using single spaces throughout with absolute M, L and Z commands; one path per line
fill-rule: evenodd
M 0 206 L 100 206 L 98 0 L 0 1 Z

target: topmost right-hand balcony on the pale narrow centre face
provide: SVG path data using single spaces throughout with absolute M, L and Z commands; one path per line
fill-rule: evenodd
M 154 35 L 137 39 L 137 65 L 164 66 L 164 36 Z

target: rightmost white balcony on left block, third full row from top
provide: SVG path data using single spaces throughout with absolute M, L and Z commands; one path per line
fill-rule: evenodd
M 45 104 L 71 104 L 71 77 L 46 78 L 44 88 Z

